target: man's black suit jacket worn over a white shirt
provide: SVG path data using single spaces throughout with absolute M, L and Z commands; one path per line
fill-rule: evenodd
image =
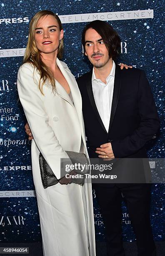
M 120 66 L 116 65 L 108 133 L 95 104 L 92 92 L 92 71 L 77 78 L 77 84 L 82 96 L 82 112 L 90 158 L 98 158 L 98 154 L 95 153 L 96 148 L 107 142 L 112 144 L 115 159 L 147 158 L 145 144 L 158 131 L 160 120 L 145 72 L 134 68 L 121 70 Z M 122 160 L 122 164 L 120 164 L 122 169 L 120 168 L 118 177 L 125 175 L 125 170 L 129 166 L 128 175 L 126 175 L 126 178 L 124 176 L 123 183 L 132 182 L 129 172 L 135 177 L 135 181 L 144 180 L 146 182 L 144 163 L 140 159 L 139 161 L 136 160 L 138 161 L 136 163 L 127 162 L 125 164 Z M 149 164 L 147 169 L 147 172 L 150 172 Z M 128 177 L 130 177 L 130 180 Z M 147 179 L 150 179 L 150 175 L 148 177 Z

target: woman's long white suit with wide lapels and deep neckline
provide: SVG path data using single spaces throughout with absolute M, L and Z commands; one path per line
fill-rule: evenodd
M 41 152 L 57 179 L 60 178 L 60 158 L 65 151 L 87 154 L 82 117 L 82 100 L 75 77 L 67 65 L 57 59 L 57 65 L 67 80 L 72 101 L 65 89 L 56 84 L 38 88 L 40 75 L 26 63 L 18 71 L 18 93 L 32 131 L 32 173 L 40 214 L 44 256 L 95 256 L 95 230 L 91 184 L 42 187 L 39 167 Z M 34 75 L 33 75 L 34 71 Z M 82 139 L 81 139 L 82 138 Z

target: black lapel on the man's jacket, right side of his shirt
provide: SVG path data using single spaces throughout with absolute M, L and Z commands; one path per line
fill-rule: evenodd
M 112 107 L 111 107 L 111 113 L 110 113 L 110 125 L 108 129 L 108 133 L 110 132 L 110 128 L 112 126 L 112 122 L 115 116 L 117 103 L 119 99 L 120 94 L 120 86 L 121 86 L 121 70 L 120 66 L 116 64 L 115 66 L 115 81 L 114 81 L 114 88 L 113 88 L 113 97 L 112 97 Z

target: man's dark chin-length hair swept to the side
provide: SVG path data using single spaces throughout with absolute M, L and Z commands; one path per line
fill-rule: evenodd
M 84 30 L 82 31 L 82 45 L 84 47 L 84 54 L 85 54 L 85 33 L 87 29 L 93 28 L 97 33 L 101 36 L 102 40 L 105 43 L 105 46 L 107 47 L 107 50 L 109 52 L 109 56 L 112 57 L 112 59 L 116 59 L 117 55 L 120 54 L 120 37 L 117 34 L 117 32 L 113 29 L 110 24 L 108 24 L 105 21 L 102 20 L 94 20 L 90 23 L 88 23 Z

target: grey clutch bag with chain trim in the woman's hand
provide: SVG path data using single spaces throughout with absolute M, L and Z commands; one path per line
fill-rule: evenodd
M 83 171 L 80 168 L 74 169 L 74 172 L 79 175 L 77 175 L 77 178 L 72 178 L 73 183 L 83 185 L 85 180 L 84 174 L 90 173 L 89 159 L 87 159 L 87 156 L 84 153 L 77 153 L 73 151 L 65 151 L 65 152 L 67 153 L 70 160 L 72 161 L 72 164 L 79 167 L 84 166 Z M 42 156 L 41 153 L 39 155 L 39 164 L 40 164 L 41 181 L 44 189 L 57 184 L 60 179 L 56 178 L 55 174 L 52 172 L 52 169 L 47 164 L 45 158 Z M 64 175 L 65 174 L 66 173 L 64 173 Z

